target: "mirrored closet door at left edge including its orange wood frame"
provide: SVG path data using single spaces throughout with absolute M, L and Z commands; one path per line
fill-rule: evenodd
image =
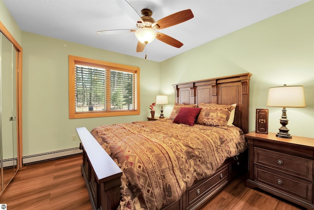
M 0 25 L 3 27 L 3 25 Z M 6 31 L 7 32 L 7 31 Z M 8 32 L 7 32 L 8 33 Z M 10 34 L 9 34 L 10 35 Z M 19 50 L 0 32 L 0 194 L 22 166 L 19 136 Z M 9 36 L 11 37 L 11 36 Z M 12 37 L 11 37 L 12 38 Z

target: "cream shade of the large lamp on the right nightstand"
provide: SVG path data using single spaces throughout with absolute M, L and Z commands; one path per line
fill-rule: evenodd
M 305 107 L 303 86 L 281 86 L 268 90 L 267 106 Z

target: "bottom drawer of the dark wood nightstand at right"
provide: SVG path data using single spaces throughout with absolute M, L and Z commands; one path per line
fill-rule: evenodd
M 300 180 L 269 169 L 254 166 L 254 180 L 276 188 L 284 194 L 313 202 L 313 182 Z

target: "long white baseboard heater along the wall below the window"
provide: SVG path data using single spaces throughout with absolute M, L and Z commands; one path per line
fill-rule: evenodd
M 49 159 L 60 158 L 63 156 L 79 154 L 79 153 L 82 153 L 82 150 L 80 150 L 79 148 L 71 148 L 71 149 L 66 149 L 66 150 L 51 151 L 51 152 L 46 152 L 46 153 L 41 153 L 41 154 L 23 156 L 22 162 L 23 162 L 23 164 L 29 164 L 29 163 L 45 161 L 45 160 L 49 160 Z

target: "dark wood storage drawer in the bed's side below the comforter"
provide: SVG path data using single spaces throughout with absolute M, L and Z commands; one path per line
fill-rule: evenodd
M 214 176 L 209 180 L 200 181 L 199 184 L 187 189 L 187 207 L 192 206 L 195 202 L 202 199 L 208 191 L 214 186 L 227 180 L 229 177 L 229 165 L 223 166 L 221 169 L 215 172 Z

